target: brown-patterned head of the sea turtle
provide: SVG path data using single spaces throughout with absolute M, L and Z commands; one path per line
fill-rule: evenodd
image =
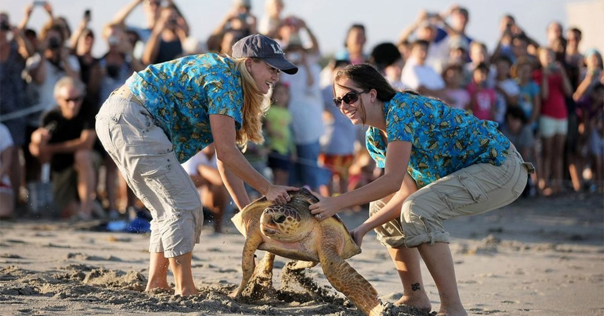
M 295 242 L 310 233 L 314 222 L 303 216 L 294 205 L 270 205 L 260 216 L 260 231 L 271 239 Z

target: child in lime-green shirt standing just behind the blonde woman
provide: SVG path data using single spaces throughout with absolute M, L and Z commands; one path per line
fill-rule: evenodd
M 265 127 L 268 143 L 268 167 L 272 170 L 275 184 L 286 185 L 289 181 L 289 165 L 292 159 L 292 114 L 289 112 L 289 86 L 277 82 L 272 88 L 271 108 L 266 113 Z

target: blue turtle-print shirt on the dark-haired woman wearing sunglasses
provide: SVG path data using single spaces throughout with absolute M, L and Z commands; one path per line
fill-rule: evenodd
M 407 171 L 423 187 L 472 164 L 501 166 L 510 141 L 493 121 L 478 120 L 434 98 L 397 92 L 384 103 L 387 143 L 412 144 Z M 378 167 L 385 167 L 387 143 L 381 131 L 370 127 L 367 149 Z

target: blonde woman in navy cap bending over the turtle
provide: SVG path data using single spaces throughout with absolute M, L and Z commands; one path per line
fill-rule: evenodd
M 278 204 L 289 201 L 288 190 L 297 190 L 271 184 L 237 148 L 263 141 L 265 94 L 280 71 L 298 68 L 277 42 L 251 35 L 233 45 L 233 57 L 202 54 L 149 65 L 104 102 L 98 138 L 153 216 L 147 291 L 171 289 L 170 267 L 175 294 L 198 293 L 191 253 L 199 242 L 202 205 L 180 165 L 195 153 L 214 143 L 220 176 L 240 209 L 249 204 L 243 181 Z

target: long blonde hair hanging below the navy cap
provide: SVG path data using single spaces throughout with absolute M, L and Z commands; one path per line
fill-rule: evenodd
M 241 73 L 241 82 L 243 88 L 243 124 L 237 131 L 237 145 L 242 147 L 243 151 L 248 147 L 248 141 L 256 144 L 262 144 L 264 137 L 262 135 L 262 117 L 269 108 L 269 99 L 265 97 L 260 88 L 245 66 L 245 60 L 248 58 L 236 58 L 237 69 Z M 261 62 L 251 58 L 252 62 Z

